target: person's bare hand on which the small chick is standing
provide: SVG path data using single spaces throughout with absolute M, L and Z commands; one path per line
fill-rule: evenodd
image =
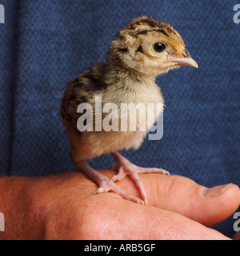
M 113 176 L 112 171 L 101 172 Z M 7 184 L 2 188 L 6 190 L 0 192 L 9 200 L 0 209 L 6 217 L 6 231 L 0 232 L 0 238 L 227 239 L 206 226 L 234 213 L 240 202 L 238 186 L 206 190 L 181 176 L 140 176 L 148 206 L 114 193 L 94 194 L 97 187 L 77 171 L 42 178 L 5 178 Z M 117 183 L 139 196 L 129 178 Z

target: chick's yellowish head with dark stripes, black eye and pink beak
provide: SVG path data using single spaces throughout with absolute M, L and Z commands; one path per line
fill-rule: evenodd
M 146 16 L 135 18 L 118 32 L 108 60 L 154 77 L 179 66 L 198 67 L 177 30 Z

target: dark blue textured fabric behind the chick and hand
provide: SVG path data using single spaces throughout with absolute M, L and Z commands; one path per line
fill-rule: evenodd
M 159 77 L 164 134 L 138 151 L 140 166 L 159 166 L 204 186 L 240 186 L 240 24 L 235 0 L 1 0 L 0 173 L 74 170 L 58 107 L 66 83 L 104 61 L 114 34 L 142 14 L 174 26 L 199 69 Z M 113 158 L 94 159 L 109 168 Z M 219 209 L 220 210 L 220 209 Z M 233 218 L 215 228 L 230 235 Z

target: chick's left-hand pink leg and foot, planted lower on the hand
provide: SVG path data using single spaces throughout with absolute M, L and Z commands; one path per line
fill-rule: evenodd
M 121 190 L 113 181 L 111 181 L 106 176 L 98 173 L 97 170 L 91 168 L 87 161 L 78 161 L 74 162 L 74 165 L 78 167 L 78 170 L 82 171 L 83 174 L 86 174 L 92 182 L 98 186 L 98 190 L 94 194 L 107 192 L 113 190 L 116 194 L 119 194 L 122 198 L 125 198 L 132 202 L 144 203 L 140 198 L 136 198 L 130 194 L 127 194 L 125 191 Z

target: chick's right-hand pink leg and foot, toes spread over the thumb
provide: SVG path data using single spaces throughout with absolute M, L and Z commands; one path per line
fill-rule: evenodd
M 147 204 L 146 199 L 146 190 L 142 184 L 141 179 L 139 178 L 138 174 L 150 174 L 150 173 L 158 173 L 158 174 L 166 174 L 170 175 L 170 173 L 166 170 L 162 170 L 159 168 L 142 168 L 139 166 L 135 166 L 133 163 L 128 161 L 126 158 L 124 158 L 121 154 L 118 152 L 112 153 L 115 160 L 117 161 L 117 164 L 112 166 L 114 170 L 118 169 L 118 174 L 114 175 L 114 177 L 111 179 L 112 182 L 120 181 L 122 178 L 124 178 L 126 175 L 129 175 L 132 181 L 135 183 L 136 187 L 138 188 L 141 197 L 143 199 L 143 202 Z

